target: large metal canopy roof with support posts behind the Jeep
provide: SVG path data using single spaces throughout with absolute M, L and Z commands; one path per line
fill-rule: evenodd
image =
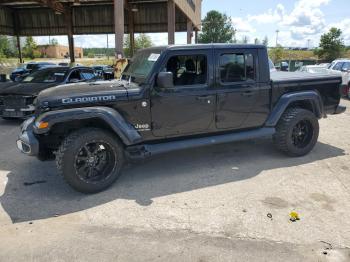
M 124 33 L 168 32 L 200 29 L 202 0 L 2 0 L 0 34 L 17 36 L 67 35 L 74 62 L 73 35 L 116 34 L 116 56 L 123 50 Z M 19 41 L 18 41 L 19 44 Z

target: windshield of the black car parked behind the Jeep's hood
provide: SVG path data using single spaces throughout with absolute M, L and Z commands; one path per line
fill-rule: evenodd
M 44 69 L 25 77 L 24 83 L 55 83 L 62 82 L 67 73 L 67 69 Z

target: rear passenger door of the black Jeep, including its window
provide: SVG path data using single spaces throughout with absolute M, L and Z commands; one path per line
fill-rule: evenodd
M 255 49 L 216 50 L 216 88 L 218 90 L 216 127 L 249 127 L 249 115 L 259 90 L 256 83 Z

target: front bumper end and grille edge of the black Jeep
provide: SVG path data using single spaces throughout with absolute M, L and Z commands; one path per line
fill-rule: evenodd
M 23 122 L 21 133 L 17 139 L 18 149 L 29 156 L 37 156 L 39 154 L 39 141 L 33 133 L 34 117 Z

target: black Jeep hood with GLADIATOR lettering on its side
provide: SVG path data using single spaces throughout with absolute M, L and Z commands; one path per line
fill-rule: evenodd
M 140 90 L 138 85 L 123 80 L 67 84 L 42 91 L 37 104 L 51 108 L 108 104 L 127 100 L 129 92 L 139 93 Z

